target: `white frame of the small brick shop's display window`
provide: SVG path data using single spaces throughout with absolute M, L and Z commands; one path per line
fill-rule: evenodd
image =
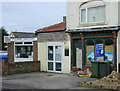
M 22 42 L 22 44 L 15 44 L 17 42 Z M 16 46 L 33 46 L 33 41 L 24 41 L 24 42 L 32 42 L 32 44 L 24 44 L 23 41 L 17 41 L 17 42 L 14 42 L 14 62 L 33 61 L 33 57 L 32 58 L 16 58 L 16 56 L 15 56 L 15 47 Z

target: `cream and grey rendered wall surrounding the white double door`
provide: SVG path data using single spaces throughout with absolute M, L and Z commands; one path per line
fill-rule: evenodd
M 62 42 L 62 73 L 70 72 L 70 38 L 65 32 L 38 34 L 38 60 L 41 63 L 41 71 L 47 71 L 47 43 Z M 64 56 L 65 46 L 69 46 L 69 56 Z

